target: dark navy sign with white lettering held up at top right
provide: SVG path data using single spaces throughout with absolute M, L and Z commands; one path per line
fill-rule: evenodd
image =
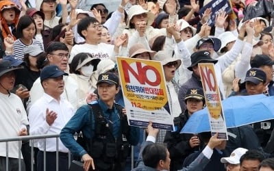
M 232 12 L 232 8 L 230 6 L 229 1 L 227 0 L 216 0 L 210 1 L 208 4 L 203 6 L 199 11 L 200 16 L 203 16 L 203 13 L 206 11 L 207 8 L 211 8 L 211 15 L 208 18 L 208 25 L 210 27 L 214 26 L 216 14 L 221 11 L 225 11 L 226 14 L 230 14 Z

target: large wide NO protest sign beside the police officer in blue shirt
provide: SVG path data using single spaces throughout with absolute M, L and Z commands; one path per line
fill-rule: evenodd
M 173 117 L 160 62 L 117 57 L 121 88 L 129 125 L 173 130 Z

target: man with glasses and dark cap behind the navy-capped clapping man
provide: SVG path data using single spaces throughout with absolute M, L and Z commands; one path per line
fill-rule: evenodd
M 62 42 L 51 42 L 49 47 L 47 47 L 47 62 L 49 65 L 56 65 L 62 71 L 66 71 L 68 67 L 69 60 L 69 49 L 66 47 L 66 44 Z M 64 92 L 61 96 L 65 99 L 73 99 L 73 92 L 77 90 L 77 83 L 75 83 L 72 77 L 64 77 L 65 88 Z M 27 109 L 34 104 L 35 101 L 38 100 L 44 93 L 42 85 L 40 83 L 40 77 L 36 79 L 32 89 L 29 92 L 29 104 L 27 105 Z M 76 98 L 75 98 L 76 99 Z M 70 102 L 73 102 L 70 100 Z M 75 105 L 73 105 L 75 106 Z

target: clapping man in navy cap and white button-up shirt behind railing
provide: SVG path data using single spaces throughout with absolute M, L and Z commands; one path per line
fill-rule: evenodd
M 74 114 L 75 109 L 69 101 L 61 98 L 64 92 L 64 73 L 58 66 L 46 66 L 40 73 L 40 81 L 44 94 L 29 109 L 30 135 L 59 134 Z M 56 151 L 59 155 L 59 170 L 69 170 L 69 150 L 60 139 L 58 149 L 55 138 L 38 141 L 37 170 L 44 168 L 44 147 L 46 146 L 46 170 L 56 170 Z

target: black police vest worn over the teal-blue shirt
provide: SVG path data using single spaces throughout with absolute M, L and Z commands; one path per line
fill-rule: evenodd
M 86 140 L 86 150 L 94 160 L 96 170 L 122 170 L 129 155 L 129 143 L 124 137 L 129 134 L 127 118 L 121 105 L 114 103 L 114 106 L 120 117 L 120 135 L 117 138 L 112 135 L 112 126 L 103 116 L 99 104 L 89 105 L 92 110 L 90 120 L 95 120 L 95 134 L 91 140 Z

